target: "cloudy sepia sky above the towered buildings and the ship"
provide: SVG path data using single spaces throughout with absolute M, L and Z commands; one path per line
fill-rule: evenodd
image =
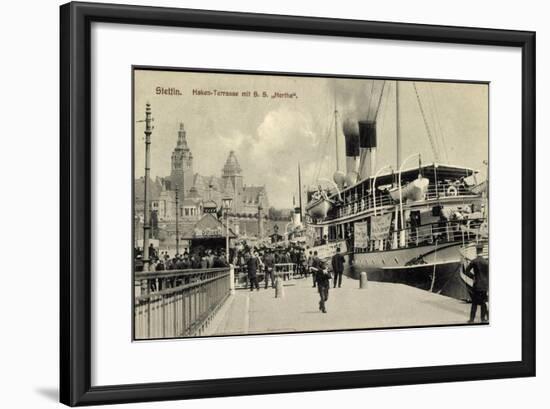
M 195 172 L 220 176 L 233 150 L 244 183 L 265 185 L 270 205 L 277 208 L 290 208 L 293 196 L 297 200 L 298 164 L 306 186 L 332 179 L 337 157 L 345 171 L 345 121 L 376 117 L 376 168 L 396 167 L 394 80 L 136 70 L 134 81 L 135 120 L 145 118 L 146 102 L 154 118 L 153 178 L 170 174 L 180 123 Z M 158 87 L 180 95 L 158 94 Z M 250 96 L 243 94 L 247 91 Z M 276 92 L 282 97 L 272 98 Z M 485 175 L 488 92 L 486 84 L 399 81 L 402 159 L 420 153 L 423 163 L 465 166 Z M 144 128 L 143 122 L 135 123 L 136 177 L 144 175 Z

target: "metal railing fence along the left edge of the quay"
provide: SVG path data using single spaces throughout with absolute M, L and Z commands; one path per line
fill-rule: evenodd
M 134 337 L 203 335 L 230 293 L 230 267 L 135 273 Z

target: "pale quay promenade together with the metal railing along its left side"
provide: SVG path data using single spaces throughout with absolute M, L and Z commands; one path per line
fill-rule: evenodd
M 324 314 L 311 276 L 283 275 L 279 290 L 250 291 L 233 289 L 239 280 L 228 267 L 136 273 L 135 339 L 454 325 L 469 318 L 470 304 L 460 300 L 405 284 L 369 281 L 360 288 L 348 277 L 330 289 Z

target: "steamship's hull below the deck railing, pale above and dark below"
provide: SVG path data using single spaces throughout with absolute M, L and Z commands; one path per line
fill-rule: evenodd
M 460 244 L 356 253 L 348 256 L 346 273 L 359 278 L 361 272 L 366 272 L 369 281 L 407 284 L 468 301 L 470 294 L 460 275 Z

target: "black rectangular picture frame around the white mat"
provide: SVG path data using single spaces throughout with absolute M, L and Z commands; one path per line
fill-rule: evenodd
M 60 8 L 60 401 L 70 406 L 535 376 L 535 33 L 68 3 Z M 184 382 L 91 385 L 91 23 L 519 47 L 522 51 L 520 361 Z M 498 257 L 498 255 L 496 255 Z

